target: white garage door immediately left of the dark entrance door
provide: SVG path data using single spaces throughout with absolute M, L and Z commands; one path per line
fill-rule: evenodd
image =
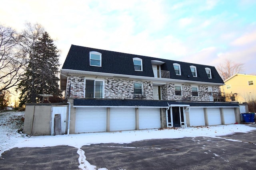
M 139 129 L 160 128 L 159 108 L 139 108 Z

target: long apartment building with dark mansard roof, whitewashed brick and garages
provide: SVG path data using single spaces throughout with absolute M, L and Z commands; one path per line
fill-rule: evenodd
M 214 66 L 71 45 L 60 74 L 70 133 L 240 123 Z

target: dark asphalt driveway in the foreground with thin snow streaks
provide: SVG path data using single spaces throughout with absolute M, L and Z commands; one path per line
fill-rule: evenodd
M 220 138 L 188 137 L 144 140 L 130 144 L 95 144 L 83 146 L 81 149 L 85 152 L 86 160 L 97 169 L 254 170 L 256 168 L 256 131 L 235 133 Z M 79 169 L 77 150 L 69 146 L 14 148 L 2 154 L 0 170 Z

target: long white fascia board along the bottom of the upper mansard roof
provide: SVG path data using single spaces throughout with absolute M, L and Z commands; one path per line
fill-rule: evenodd
M 188 84 L 199 84 L 199 85 L 211 85 L 211 86 L 222 86 L 222 83 L 211 83 L 211 82 L 198 82 L 191 80 L 178 80 L 171 78 L 157 78 L 157 77 L 146 77 L 146 76 L 133 76 L 126 74 L 113 74 L 107 72 L 92 72 L 92 71 L 82 71 L 82 70 L 70 70 L 70 69 L 60 69 L 61 74 L 84 74 L 84 75 L 94 75 L 94 76 L 106 76 L 106 77 L 116 77 L 116 78 L 130 78 L 135 80 L 147 80 L 154 82 L 163 82 L 163 83 L 188 83 Z

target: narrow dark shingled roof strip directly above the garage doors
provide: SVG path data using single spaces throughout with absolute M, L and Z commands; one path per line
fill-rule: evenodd
M 239 107 L 236 102 L 176 102 L 169 100 L 116 100 L 116 99 L 74 99 L 74 106 L 136 106 L 168 107 L 169 105 L 190 105 L 201 107 Z

